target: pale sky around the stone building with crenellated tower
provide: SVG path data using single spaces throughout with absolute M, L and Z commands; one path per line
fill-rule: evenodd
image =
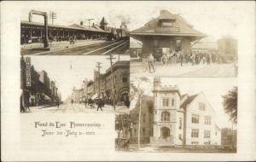
M 177 85 L 181 95 L 195 95 L 201 91 L 207 96 L 212 108 L 218 117 L 217 124 L 220 128 L 231 127 L 229 116 L 224 113 L 222 105 L 222 95 L 226 95 L 237 85 L 236 78 L 160 78 L 162 85 Z M 131 77 L 135 85 L 139 83 L 138 78 Z M 141 89 L 145 95 L 152 95 L 154 78 L 149 78 L 148 82 L 141 84 Z M 193 86 L 191 86 L 193 85 Z M 150 87 L 150 88 L 148 88 Z M 131 109 L 134 107 L 136 100 L 132 101 Z

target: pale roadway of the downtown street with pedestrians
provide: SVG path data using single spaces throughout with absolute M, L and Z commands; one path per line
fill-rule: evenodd
M 60 107 L 30 107 L 30 109 L 31 111 L 27 113 L 129 113 L 129 108 L 125 106 L 116 106 L 116 110 L 113 110 L 112 106 L 105 105 L 102 107 L 102 110 L 99 109 L 99 111 L 96 111 L 96 106 L 95 108 L 90 108 L 89 106 L 85 107 L 84 104 L 79 103 L 64 103 L 61 104 Z

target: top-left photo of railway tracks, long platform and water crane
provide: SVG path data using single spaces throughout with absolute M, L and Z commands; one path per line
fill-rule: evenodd
M 38 19 L 38 15 L 44 20 Z M 64 17 L 63 10 L 24 10 L 20 21 L 20 54 L 129 55 L 125 19 L 117 16 L 112 19 L 113 24 L 96 13 L 91 14 L 93 17 L 88 17 L 90 14 L 86 12 L 75 15 Z

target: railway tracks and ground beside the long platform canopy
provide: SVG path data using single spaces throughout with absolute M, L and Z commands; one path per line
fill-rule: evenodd
M 44 50 L 42 43 L 32 43 L 21 46 L 21 55 L 109 55 L 125 54 L 129 49 L 129 40 L 77 40 L 50 43 L 50 49 Z

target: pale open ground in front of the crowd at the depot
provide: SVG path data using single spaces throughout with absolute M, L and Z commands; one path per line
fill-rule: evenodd
M 191 66 L 190 64 L 180 66 L 154 65 L 156 72 L 144 72 L 141 62 L 131 62 L 132 76 L 168 76 L 168 77 L 235 77 L 235 67 L 233 63 L 227 64 L 200 64 Z

